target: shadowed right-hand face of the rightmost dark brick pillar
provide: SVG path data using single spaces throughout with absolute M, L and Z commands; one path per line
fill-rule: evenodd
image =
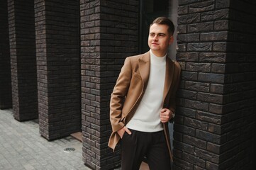
M 256 120 L 256 2 L 230 1 L 224 94 L 228 96 L 223 127 L 233 147 L 227 164 L 234 169 L 255 169 Z M 231 128 L 233 127 L 233 128 Z M 232 156 L 231 156 L 232 155 Z

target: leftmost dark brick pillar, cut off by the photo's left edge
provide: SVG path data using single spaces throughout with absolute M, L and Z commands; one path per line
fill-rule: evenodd
M 11 108 L 11 64 L 7 1 L 0 1 L 0 109 Z

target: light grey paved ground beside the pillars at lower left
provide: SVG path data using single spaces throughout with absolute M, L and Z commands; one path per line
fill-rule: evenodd
M 64 152 L 67 147 L 74 152 Z M 0 169 L 89 170 L 82 161 L 82 142 L 71 136 L 48 142 L 36 121 L 20 123 L 11 110 L 0 110 Z

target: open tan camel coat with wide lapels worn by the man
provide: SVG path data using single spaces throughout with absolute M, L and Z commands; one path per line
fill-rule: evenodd
M 165 89 L 162 108 L 175 111 L 175 94 L 179 84 L 180 66 L 166 57 Z M 145 92 L 150 73 L 150 52 L 143 55 L 127 57 L 123 65 L 116 86 L 111 94 L 110 120 L 112 134 L 108 147 L 114 149 L 121 139 L 117 131 L 133 117 L 135 110 Z M 172 159 L 172 149 L 169 141 L 168 123 L 164 123 L 165 139 Z

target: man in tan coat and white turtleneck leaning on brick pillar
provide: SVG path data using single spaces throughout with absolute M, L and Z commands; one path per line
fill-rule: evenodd
M 160 17 L 150 25 L 150 51 L 127 57 L 111 94 L 112 134 L 108 146 L 121 140 L 123 170 L 140 168 L 143 157 L 150 169 L 169 170 L 172 149 L 168 122 L 174 117 L 180 66 L 167 57 L 174 25 Z

